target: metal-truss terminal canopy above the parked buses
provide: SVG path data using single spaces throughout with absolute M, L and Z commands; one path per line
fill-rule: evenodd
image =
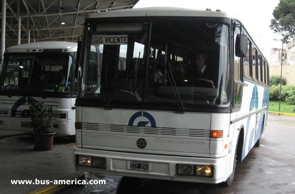
M 132 8 L 139 0 L 6 0 L 6 44 L 30 41 L 76 41 L 88 13 Z M 0 6 L 2 6 L 0 4 Z M 2 7 L 0 8 L 2 10 Z M 1 32 L 2 33 L 2 32 Z

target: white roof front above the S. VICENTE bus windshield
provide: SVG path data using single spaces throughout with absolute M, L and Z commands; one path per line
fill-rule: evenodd
M 178 7 L 147 7 L 88 14 L 87 18 L 115 18 L 115 17 L 153 17 L 153 16 L 185 16 L 185 17 L 221 17 L 231 18 L 222 11 L 207 11 Z

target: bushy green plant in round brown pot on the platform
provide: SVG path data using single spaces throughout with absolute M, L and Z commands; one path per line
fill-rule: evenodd
M 29 106 L 31 115 L 35 150 L 52 150 L 53 137 L 51 132 L 52 107 L 46 107 L 43 102 L 35 102 Z

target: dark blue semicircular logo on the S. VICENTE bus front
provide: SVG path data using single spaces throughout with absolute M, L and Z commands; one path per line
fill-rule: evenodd
M 130 117 L 128 126 L 156 127 L 156 121 L 148 112 L 138 111 Z

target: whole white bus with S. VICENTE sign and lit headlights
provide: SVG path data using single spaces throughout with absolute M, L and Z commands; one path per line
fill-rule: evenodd
M 96 67 L 90 45 L 103 50 Z M 196 74 L 199 55 L 207 77 Z M 260 144 L 268 63 L 227 13 L 89 14 L 79 65 L 74 154 L 80 171 L 230 185 L 236 161 Z M 100 78 L 89 83 L 98 67 Z

